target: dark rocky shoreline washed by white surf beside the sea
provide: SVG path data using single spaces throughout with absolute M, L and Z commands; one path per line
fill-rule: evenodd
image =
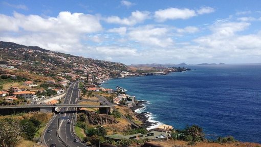
M 147 103 L 147 101 L 144 101 L 144 100 L 140 100 L 136 103 L 136 106 L 134 107 L 130 107 L 130 109 L 132 109 L 132 111 L 134 112 L 134 114 L 136 115 L 136 117 L 138 117 L 142 122 L 142 128 L 149 128 L 151 127 L 152 125 L 155 125 L 157 124 L 156 122 L 150 122 L 148 119 L 149 119 L 149 116 L 150 115 L 150 112 L 142 112 L 142 113 L 137 113 L 135 112 L 135 110 L 137 109 L 141 109 L 144 107 L 144 104 Z

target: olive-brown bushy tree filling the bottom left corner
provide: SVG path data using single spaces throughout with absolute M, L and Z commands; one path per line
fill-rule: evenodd
M 22 139 L 23 127 L 16 119 L 0 119 L 0 146 L 16 146 Z

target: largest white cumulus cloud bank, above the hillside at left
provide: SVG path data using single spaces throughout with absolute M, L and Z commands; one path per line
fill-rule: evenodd
M 102 30 L 96 16 L 83 13 L 60 12 L 57 17 L 44 18 L 14 12 L 13 16 L 0 15 L 0 19 L 1 40 L 53 51 L 80 48 L 83 34 Z M 4 35 L 6 32 L 13 35 Z

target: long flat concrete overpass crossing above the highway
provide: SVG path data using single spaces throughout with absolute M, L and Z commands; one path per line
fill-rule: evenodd
M 105 105 L 86 105 L 86 104 L 25 104 L 16 106 L 0 106 L 0 109 L 18 109 L 18 108 L 109 108 L 115 107 L 116 104 L 105 104 Z

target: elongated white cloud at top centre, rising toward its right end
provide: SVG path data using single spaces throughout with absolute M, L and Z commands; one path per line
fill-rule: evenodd
M 145 19 L 149 18 L 149 12 L 148 11 L 134 11 L 132 12 L 132 15 L 128 18 L 120 18 L 118 16 L 110 16 L 106 18 L 107 23 L 111 24 L 120 24 L 120 25 L 127 25 L 127 26 L 133 26 L 138 23 L 142 23 Z

